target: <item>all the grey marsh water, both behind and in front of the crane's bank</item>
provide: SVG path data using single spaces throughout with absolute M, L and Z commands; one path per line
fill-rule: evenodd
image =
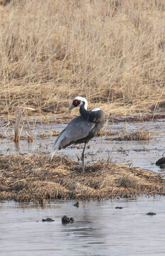
M 38 154 L 50 152 L 55 137 L 41 138 L 39 134 L 64 129 L 67 124 L 35 124 L 34 141 L 0 140 L 0 154 Z M 140 166 L 161 174 L 165 170 L 155 165 L 164 156 L 165 120 L 143 123 L 108 124 L 111 132 L 135 132 L 141 127 L 152 131 L 147 141 L 110 141 L 96 137 L 86 149 L 86 164 L 99 159 Z M 4 127 L 4 134 L 13 129 Z M 111 136 L 113 137 L 113 136 Z M 69 146 L 58 152 L 79 161 L 83 146 Z M 165 197 L 132 198 L 115 201 L 53 201 L 45 207 L 33 203 L 0 203 L 1 256 L 132 256 L 165 255 Z M 123 207 L 116 209 L 115 207 Z M 157 215 L 147 215 L 154 212 Z M 62 216 L 74 218 L 74 223 L 62 225 Z M 54 222 L 42 222 L 52 218 Z

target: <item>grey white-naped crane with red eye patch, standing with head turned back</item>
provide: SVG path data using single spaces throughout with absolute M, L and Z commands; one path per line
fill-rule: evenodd
M 58 135 L 56 141 L 52 145 L 51 159 L 59 149 L 64 149 L 72 144 L 84 143 L 84 149 L 81 154 L 83 164 L 82 173 L 84 174 L 86 144 L 100 132 L 106 119 L 106 114 L 99 108 L 94 108 L 90 111 L 87 110 L 88 102 L 84 97 L 75 97 L 67 114 L 69 114 L 74 107 L 79 107 L 80 115 L 79 117 L 72 119 L 67 127 Z

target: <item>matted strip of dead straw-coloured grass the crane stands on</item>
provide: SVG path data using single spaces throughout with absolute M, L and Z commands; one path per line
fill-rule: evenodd
M 124 164 L 98 161 L 88 165 L 56 156 L 0 156 L 0 199 L 39 201 L 57 198 L 115 198 L 165 195 L 159 174 Z

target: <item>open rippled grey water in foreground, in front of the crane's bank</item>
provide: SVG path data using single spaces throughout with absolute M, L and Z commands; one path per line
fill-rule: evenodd
M 0 255 L 165 255 L 164 197 L 74 203 L 0 203 Z M 62 225 L 63 215 L 74 223 Z

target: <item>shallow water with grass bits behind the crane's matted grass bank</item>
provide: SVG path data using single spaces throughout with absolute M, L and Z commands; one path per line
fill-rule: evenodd
M 135 132 L 140 127 L 144 126 L 152 132 L 158 132 L 152 134 L 149 141 L 108 141 L 105 138 L 93 138 L 89 142 L 89 148 L 86 149 L 86 163 L 92 163 L 99 159 L 110 159 L 112 162 L 118 162 L 120 164 L 127 163 L 132 166 L 140 166 L 143 169 L 149 169 L 156 172 L 165 174 L 165 170 L 159 169 L 159 166 L 155 165 L 155 162 L 164 156 L 165 154 L 165 120 L 159 119 L 157 122 L 138 122 L 138 123 L 119 123 L 108 124 L 106 129 L 110 129 L 111 132 Z M 37 154 L 38 151 L 49 153 L 52 143 L 55 141 L 55 137 L 46 137 L 44 139 L 38 137 L 38 133 L 42 134 L 49 131 L 59 131 L 64 129 L 67 124 L 34 124 L 33 143 L 27 141 L 21 141 L 18 145 L 12 142 L 11 139 L 0 140 L 0 154 Z M 11 135 L 12 129 L 4 130 L 4 134 Z M 159 132 L 164 134 L 159 134 Z M 83 149 L 83 144 L 79 146 L 69 146 L 66 149 L 62 149 L 57 152 L 58 155 L 67 156 L 74 160 L 79 160 Z

